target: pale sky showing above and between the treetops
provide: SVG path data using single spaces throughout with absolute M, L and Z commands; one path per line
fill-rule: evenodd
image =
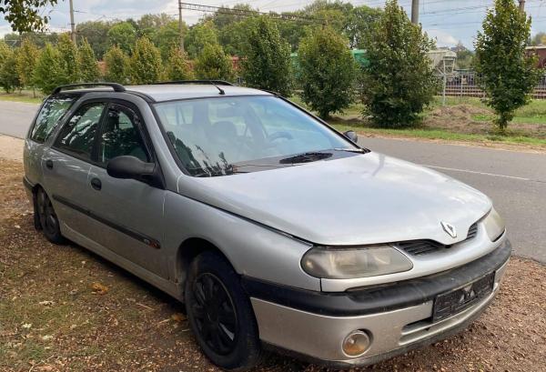
M 231 6 L 248 3 L 260 11 L 292 11 L 311 4 L 312 0 L 186 0 L 188 3 L 212 6 Z M 516 0 L 514 0 L 516 1 Z M 351 0 L 353 5 L 382 7 L 384 0 Z M 411 0 L 399 0 L 399 4 L 410 14 Z M 420 0 L 420 23 L 423 29 L 437 39 L 438 46 L 454 46 L 459 41 L 473 49 L 474 38 L 481 28 L 481 21 L 493 0 Z M 167 13 L 177 16 L 177 0 L 74 0 L 76 24 L 88 20 L 113 20 L 140 15 Z M 527 0 L 526 10 L 531 15 L 531 35 L 546 32 L 546 0 Z M 204 13 L 184 10 L 184 21 L 195 24 Z M 70 28 L 68 0 L 59 0 L 52 7 L 45 8 L 51 16 L 52 31 L 68 31 Z M 0 35 L 11 32 L 9 24 L 0 20 Z

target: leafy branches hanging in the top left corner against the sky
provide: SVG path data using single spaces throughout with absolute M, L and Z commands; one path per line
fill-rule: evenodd
M 16 32 L 41 30 L 49 21 L 42 8 L 56 3 L 57 0 L 0 0 L 0 13 Z

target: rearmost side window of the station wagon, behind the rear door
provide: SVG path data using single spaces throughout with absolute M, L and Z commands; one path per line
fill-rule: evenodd
M 32 128 L 30 139 L 44 143 L 76 99 L 76 96 L 55 96 L 45 101 Z

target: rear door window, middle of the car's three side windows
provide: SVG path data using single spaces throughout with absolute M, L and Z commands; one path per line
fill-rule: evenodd
M 105 103 L 100 102 L 80 107 L 61 129 L 56 147 L 78 157 L 90 159 L 96 130 L 105 106 Z

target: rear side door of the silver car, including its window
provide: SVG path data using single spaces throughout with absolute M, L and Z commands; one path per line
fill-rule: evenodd
M 53 146 L 42 156 L 45 192 L 52 199 L 64 228 L 90 234 L 85 213 L 87 178 L 106 102 L 79 106 L 60 129 Z

